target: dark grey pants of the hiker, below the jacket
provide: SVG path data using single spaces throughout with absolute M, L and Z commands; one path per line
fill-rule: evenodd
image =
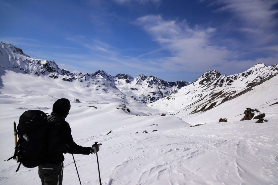
M 39 166 L 39 177 L 42 185 L 62 185 L 64 163 L 42 164 Z

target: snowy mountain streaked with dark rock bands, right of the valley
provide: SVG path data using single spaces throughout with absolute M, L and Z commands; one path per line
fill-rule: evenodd
M 247 92 L 255 93 L 255 87 L 266 81 L 272 82 L 269 89 L 273 91 L 273 93 L 268 92 L 266 96 L 273 97 L 274 95 L 274 98 L 277 98 L 277 81 L 274 78 L 277 74 L 278 64 L 272 66 L 256 64 L 245 72 L 230 76 L 221 75 L 220 72 L 212 70 L 201 75 L 193 83 L 179 89 L 178 92 L 148 106 L 186 119 L 192 114 L 202 114 L 227 101 L 241 97 Z M 259 97 L 259 92 L 257 93 Z

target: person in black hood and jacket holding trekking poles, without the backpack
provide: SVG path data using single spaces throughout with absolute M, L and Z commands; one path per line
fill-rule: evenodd
M 70 101 L 62 98 L 53 104 L 52 113 L 47 117 L 51 124 L 48 134 L 48 150 L 45 162 L 39 165 L 39 177 L 42 185 L 61 185 L 63 182 L 64 154 L 95 154 L 99 144 L 91 147 L 77 145 L 71 135 L 71 129 L 65 118 L 70 111 Z

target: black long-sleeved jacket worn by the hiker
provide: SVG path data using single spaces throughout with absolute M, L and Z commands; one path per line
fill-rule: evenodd
M 90 154 L 91 147 L 77 145 L 72 136 L 71 129 L 65 117 L 51 113 L 47 117 L 49 124 L 48 151 L 45 163 L 59 163 L 64 161 L 64 154 Z

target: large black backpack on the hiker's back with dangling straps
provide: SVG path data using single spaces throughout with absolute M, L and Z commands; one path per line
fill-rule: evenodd
M 14 158 L 24 167 L 34 168 L 44 163 L 47 150 L 47 115 L 40 110 L 27 110 L 19 117 L 18 141 Z

